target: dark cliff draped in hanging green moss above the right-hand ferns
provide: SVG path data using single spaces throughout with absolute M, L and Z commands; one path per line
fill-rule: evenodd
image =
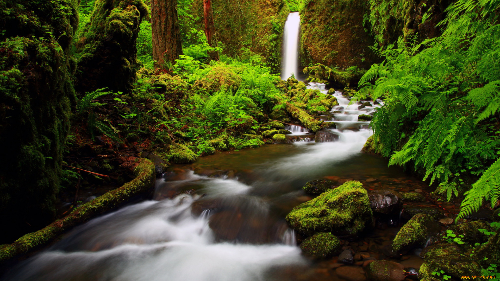
M 418 40 L 441 34 L 437 24 L 444 19 L 450 0 L 369 0 L 365 18 L 372 34 L 382 45 L 394 43 L 399 36 Z M 423 19 L 423 20 L 422 20 Z M 423 22 L 422 22 L 423 21 Z

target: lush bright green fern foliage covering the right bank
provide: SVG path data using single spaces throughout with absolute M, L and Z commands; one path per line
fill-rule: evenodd
M 371 123 L 377 152 L 390 155 L 389 164 L 412 166 L 437 182 L 436 192 L 448 200 L 465 188 L 463 174 L 480 174 L 498 157 L 498 124 L 489 119 L 500 106 L 497 6 L 459 0 L 446 9 L 443 35 L 418 42 L 405 34 L 397 45 L 375 45 L 385 59 L 363 75 L 354 96 L 385 98 Z M 393 1 L 377 16 L 405 18 L 395 13 L 407 8 Z M 496 203 L 497 169 L 495 162 L 472 185 L 460 216 L 477 209 L 483 197 Z

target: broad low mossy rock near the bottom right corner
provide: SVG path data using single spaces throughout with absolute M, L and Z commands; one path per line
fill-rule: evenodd
M 443 270 L 446 275 L 460 280 L 461 276 L 480 276 L 479 264 L 464 255 L 456 243 L 439 243 L 428 246 L 422 251 L 424 258 L 418 276 L 421 279 L 431 278 L 432 272 Z

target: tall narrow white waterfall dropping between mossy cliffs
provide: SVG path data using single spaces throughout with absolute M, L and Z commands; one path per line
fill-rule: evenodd
M 292 74 L 298 76 L 298 34 L 300 31 L 300 15 L 290 12 L 284 23 L 283 57 L 281 62 L 281 79 L 286 80 Z

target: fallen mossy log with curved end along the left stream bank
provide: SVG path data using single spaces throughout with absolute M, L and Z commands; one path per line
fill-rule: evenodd
M 70 214 L 57 219 L 43 229 L 28 233 L 11 244 L 0 246 L 0 261 L 11 259 L 19 254 L 45 245 L 64 231 L 82 223 L 91 217 L 108 211 L 120 204 L 128 202 L 134 196 L 147 191 L 154 185 L 156 173 L 154 164 L 145 158 L 128 157 L 122 164 L 123 167 L 133 169 L 135 178 L 121 187 L 104 193 L 75 208 Z

